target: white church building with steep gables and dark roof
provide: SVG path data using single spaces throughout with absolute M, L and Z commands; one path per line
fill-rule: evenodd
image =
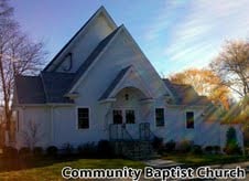
M 190 85 L 161 78 L 126 26 L 118 26 L 104 7 L 37 76 L 17 76 L 14 88 L 17 148 L 29 141 L 59 148 L 152 135 L 164 142 L 225 145 L 228 126 L 210 119 L 213 104 Z

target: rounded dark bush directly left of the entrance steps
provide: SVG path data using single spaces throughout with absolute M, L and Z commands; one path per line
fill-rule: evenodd
M 97 152 L 99 158 L 113 158 L 115 151 L 108 140 L 100 140 L 97 146 Z

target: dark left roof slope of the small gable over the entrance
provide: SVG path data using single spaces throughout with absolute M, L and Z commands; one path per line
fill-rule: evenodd
M 112 92 L 112 89 L 118 85 L 118 83 L 122 79 L 122 77 L 126 75 L 126 73 L 128 72 L 128 70 L 131 66 L 128 66 L 123 70 L 121 70 L 118 75 L 115 77 L 115 79 L 110 83 L 109 87 L 106 89 L 106 92 L 101 95 L 101 97 L 99 98 L 99 100 L 106 99 L 109 97 L 110 93 Z

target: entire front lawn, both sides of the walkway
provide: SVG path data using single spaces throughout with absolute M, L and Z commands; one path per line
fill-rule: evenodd
M 166 160 L 185 163 L 188 167 L 198 167 L 207 164 L 231 163 L 249 160 L 243 156 L 224 156 L 224 155 L 181 155 L 170 153 L 162 157 Z M 29 161 L 9 162 L 0 158 L 0 180 L 63 180 L 61 171 L 64 167 L 72 168 L 141 168 L 145 167 L 141 161 L 131 161 L 124 159 L 50 159 L 47 157 L 40 159 L 29 159 Z

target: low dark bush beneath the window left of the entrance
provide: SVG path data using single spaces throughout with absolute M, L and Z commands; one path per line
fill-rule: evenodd
M 95 145 L 95 142 L 79 145 L 77 150 L 78 153 L 84 158 L 97 157 L 97 146 Z

